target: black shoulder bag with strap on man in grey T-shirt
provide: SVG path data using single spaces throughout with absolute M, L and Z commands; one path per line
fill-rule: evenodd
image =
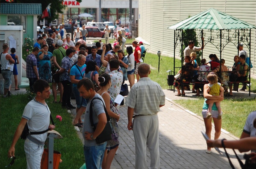
M 92 119 L 92 106 L 93 106 L 92 101 L 93 101 L 94 99 L 99 99 L 99 100 L 102 102 L 102 104 L 103 104 L 103 106 L 104 106 L 104 111 L 105 111 L 106 116 L 107 116 L 107 124 L 106 124 L 106 126 L 104 127 L 104 129 L 103 129 L 103 131 L 100 133 L 100 135 L 98 135 L 98 137 L 96 137 L 96 142 L 97 142 L 97 144 L 101 144 L 101 143 L 103 143 L 103 142 L 106 142 L 106 141 L 112 139 L 112 127 L 111 127 L 111 124 L 109 123 L 110 118 L 109 118 L 109 116 L 108 116 L 108 111 L 107 111 L 107 109 L 106 109 L 106 107 L 105 107 L 105 105 L 104 105 L 104 102 L 103 102 L 100 98 L 95 97 L 95 98 L 93 98 L 93 99 L 91 100 L 91 104 L 90 104 L 90 122 L 91 122 L 91 126 L 92 126 L 93 131 L 95 131 L 95 129 L 96 129 L 96 127 L 97 127 L 97 124 L 98 124 L 98 123 L 94 124 L 94 123 L 93 123 L 93 119 Z

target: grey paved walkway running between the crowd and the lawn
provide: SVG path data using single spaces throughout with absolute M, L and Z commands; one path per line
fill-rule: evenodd
M 172 100 L 196 99 L 191 91 L 186 92 L 185 97 L 174 96 L 171 90 L 164 90 L 166 96 L 165 106 L 160 108 L 159 117 L 159 150 L 161 168 L 168 169 L 230 169 L 228 159 L 224 155 L 212 149 L 211 154 L 206 154 L 206 142 L 201 134 L 204 129 L 203 119 L 193 113 L 189 113 Z M 248 93 L 235 93 L 237 97 L 248 97 Z M 255 94 L 253 94 L 254 97 Z M 233 96 L 235 97 L 235 96 Z M 75 105 L 75 100 L 72 100 Z M 199 109 L 202 106 L 198 107 Z M 72 110 L 75 117 L 75 110 Z M 111 169 L 134 169 L 135 143 L 132 131 L 127 129 L 127 106 L 119 109 L 119 134 L 120 145 L 117 155 L 112 162 Z M 84 118 L 82 116 L 82 118 Z M 80 129 L 81 131 L 81 129 Z M 225 132 L 225 130 L 224 130 Z M 238 139 L 232 134 L 221 132 L 220 138 Z M 80 133 L 80 132 L 78 132 Z M 81 134 L 81 133 L 80 133 Z M 81 135 L 80 135 L 81 136 Z M 212 138 L 214 127 L 212 128 Z M 223 149 L 220 149 L 224 151 Z M 233 164 L 240 168 L 232 150 L 228 150 Z M 238 151 L 237 151 L 238 152 Z M 242 159 L 242 155 L 238 153 Z M 147 165 L 150 165 L 150 154 L 147 149 Z

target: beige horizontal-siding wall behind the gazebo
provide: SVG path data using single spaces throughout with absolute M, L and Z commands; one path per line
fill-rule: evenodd
M 145 46 L 151 52 L 160 50 L 163 55 L 173 57 L 174 30 L 167 29 L 167 27 L 209 8 L 217 9 L 249 24 L 256 25 L 256 0 L 245 0 L 243 3 L 238 0 L 139 0 L 139 37 L 148 42 L 149 45 L 146 44 Z M 204 30 L 204 32 L 207 38 L 210 33 L 208 30 Z M 216 36 L 218 33 L 219 31 L 215 30 L 213 34 Z M 234 31 L 230 32 L 230 34 L 233 33 Z M 227 32 L 225 32 L 226 34 Z M 255 34 L 256 30 L 252 29 L 251 61 L 253 68 L 251 73 L 254 73 L 254 75 L 256 75 Z M 222 43 L 225 43 L 225 40 Z M 249 54 L 246 46 L 244 50 L 248 51 Z M 176 57 L 179 57 L 179 51 L 180 44 L 175 50 Z M 219 49 L 216 49 L 211 43 L 207 43 L 203 57 L 209 60 L 208 56 L 211 53 L 220 56 Z M 221 55 L 226 60 L 227 66 L 233 65 L 233 58 L 237 55 L 236 44 L 228 43 Z

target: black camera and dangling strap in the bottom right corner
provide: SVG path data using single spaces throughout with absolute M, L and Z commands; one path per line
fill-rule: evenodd
M 229 156 L 228 156 L 227 150 L 226 150 L 225 145 L 224 145 L 224 142 L 223 142 L 224 140 L 226 140 L 226 139 L 222 139 L 222 140 L 221 140 L 221 145 L 222 145 L 222 147 L 223 147 L 224 150 L 225 150 L 225 153 L 226 153 L 226 156 L 228 157 L 228 162 L 229 162 L 231 168 L 232 168 L 232 169 L 235 169 L 234 165 L 232 164 L 232 162 L 231 162 L 231 160 L 230 160 L 230 158 L 229 158 Z M 235 151 L 234 149 L 232 149 L 232 150 L 234 151 L 234 153 L 235 153 L 235 155 L 236 155 L 236 158 L 237 158 L 237 160 L 238 160 L 238 162 L 239 162 L 239 164 L 240 164 L 240 166 L 241 166 L 242 169 L 255 169 L 255 168 L 256 168 L 256 163 L 251 163 L 251 160 L 249 160 L 248 157 L 246 158 L 246 154 L 244 154 L 244 159 L 245 159 L 245 164 L 244 164 L 244 163 L 240 160 L 240 158 L 237 156 L 236 151 Z

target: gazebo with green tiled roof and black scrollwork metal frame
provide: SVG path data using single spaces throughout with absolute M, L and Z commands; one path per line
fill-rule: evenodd
M 209 16 L 211 18 L 207 19 L 209 18 Z M 225 20 L 226 18 L 228 18 L 228 21 Z M 231 20 L 234 24 L 230 23 Z M 209 24 L 210 22 L 213 24 L 212 25 Z M 195 16 L 185 19 L 168 28 L 174 29 L 173 67 L 174 67 L 174 74 L 176 74 L 177 72 L 175 71 L 175 68 L 181 68 L 183 65 L 183 59 L 184 59 L 183 30 L 185 29 L 194 29 L 194 31 L 199 30 L 199 33 L 196 35 L 196 40 L 198 41 L 202 37 L 205 37 L 204 29 L 207 29 L 208 32 L 210 33 L 210 36 L 207 38 L 207 40 L 204 39 L 204 41 L 202 40 L 198 41 L 199 45 L 202 47 L 202 43 L 204 42 L 204 47 L 205 47 L 208 43 L 211 43 L 216 47 L 216 49 L 219 50 L 220 59 L 221 59 L 222 58 L 221 53 L 223 52 L 224 48 L 228 43 L 233 43 L 234 46 L 236 47 L 241 42 L 243 42 L 244 45 L 246 45 L 247 48 L 249 49 L 248 57 L 250 57 L 251 56 L 251 29 L 256 27 L 244 21 L 236 19 L 230 15 L 227 15 L 226 13 L 223 13 L 211 8 L 211 9 L 208 9 L 207 11 L 201 12 Z M 232 33 L 231 30 L 235 30 L 235 31 Z M 217 44 L 214 43 L 214 41 L 218 39 L 220 39 L 219 43 Z M 181 45 L 181 51 L 182 51 L 181 67 L 175 67 L 175 49 L 178 47 L 179 44 Z M 202 58 L 203 58 L 203 51 L 204 50 L 202 49 Z M 239 53 L 238 49 L 237 49 L 237 53 Z M 250 83 L 251 83 L 251 69 L 249 68 L 249 96 L 251 96 Z M 181 86 L 183 86 L 183 81 L 181 81 Z M 181 91 L 182 93 L 183 88 L 181 90 L 182 90 Z M 175 90 L 173 90 L 173 92 L 174 91 Z

